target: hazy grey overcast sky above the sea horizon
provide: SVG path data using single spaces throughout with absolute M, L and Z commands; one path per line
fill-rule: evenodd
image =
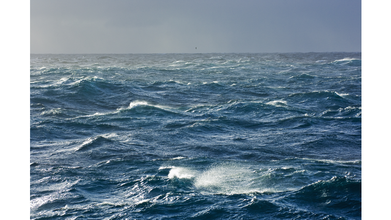
M 312 51 L 361 51 L 361 1 L 30 2 L 31 53 Z

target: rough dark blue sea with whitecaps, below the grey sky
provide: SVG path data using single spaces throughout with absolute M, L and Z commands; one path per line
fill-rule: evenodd
M 31 219 L 361 219 L 361 53 L 30 62 Z

